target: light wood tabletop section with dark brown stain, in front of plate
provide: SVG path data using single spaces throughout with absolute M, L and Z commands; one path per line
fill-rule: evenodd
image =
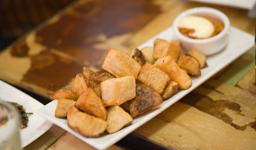
M 254 149 L 255 100 L 253 93 L 209 80 L 135 132 L 182 150 Z

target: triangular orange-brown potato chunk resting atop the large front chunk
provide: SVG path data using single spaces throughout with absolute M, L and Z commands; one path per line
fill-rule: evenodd
M 103 105 L 101 98 L 89 87 L 78 98 L 75 103 L 75 107 L 87 114 L 107 119 L 107 110 Z

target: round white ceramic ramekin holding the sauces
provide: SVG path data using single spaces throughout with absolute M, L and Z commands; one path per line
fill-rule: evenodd
M 200 15 L 217 19 L 224 24 L 224 29 L 219 34 L 207 39 L 192 39 L 186 37 L 180 33 L 177 24 L 181 18 L 187 15 Z M 210 7 L 195 7 L 180 13 L 175 18 L 172 27 L 175 37 L 177 40 L 180 40 L 181 46 L 185 51 L 195 48 L 205 55 L 212 55 L 224 49 L 229 40 L 229 18 L 221 11 Z

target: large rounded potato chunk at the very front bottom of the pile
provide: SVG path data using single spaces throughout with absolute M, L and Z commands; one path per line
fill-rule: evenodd
M 87 137 L 97 137 L 108 127 L 107 121 L 84 113 L 75 106 L 71 106 L 67 112 L 67 124 L 76 132 Z

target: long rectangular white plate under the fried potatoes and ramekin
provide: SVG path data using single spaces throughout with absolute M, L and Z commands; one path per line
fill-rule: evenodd
M 148 40 L 147 42 L 140 45 L 138 48 L 141 49 L 145 46 L 153 46 L 153 42 L 156 38 L 162 38 L 166 40 L 175 40 L 174 33 L 172 27 L 167 28 L 163 32 L 159 33 L 157 36 Z M 113 134 L 107 134 L 98 137 L 98 138 L 86 138 L 79 133 L 72 130 L 67 125 L 67 120 L 62 118 L 56 118 L 55 109 L 58 100 L 54 100 L 49 104 L 45 105 L 43 108 L 37 111 L 38 114 L 51 121 L 52 123 L 58 125 L 59 127 L 67 130 L 73 135 L 80 138 L 82 141 L 87 142 L 91 146 L 97 149 L 106 149 L 111 145 L 115 144 L 117 141 L 122 139 L 124 136 L 133 132 L 138 127 L 142 126 L 142 124 L 151 120 L 156 115 L 160 114 L 162 111 L 166 110 L 166 108 L 170 107 L 172 104 L 180 100 L 182 97 L 187 95 L 189 92 L 194 90 L 196 87 L 200 86 L 204 81 L 212 77 L 218 71 L 220 71 L 225 66 L 229 65 L 240 55 L 244 54 L 248 49 L 254 46 L 254 37 L 251 34 L 245 33 L 235 27 L 230 28 L 230 37 L 229 43 L 221 52 L 218 52 L 215 55 L 207 57 L 207 64 L 209 67 L 201 70 L 201 77 L 192 78 L 193 83 L 192 86 L 188 90 L 180 90 L 176 95 L 172 98 L 165 100 L 162 105 L 149 110 L 145 114 L 134 117 L 134 121 L 130 126 L 126 126 L 123 129 L 119 130 Z

